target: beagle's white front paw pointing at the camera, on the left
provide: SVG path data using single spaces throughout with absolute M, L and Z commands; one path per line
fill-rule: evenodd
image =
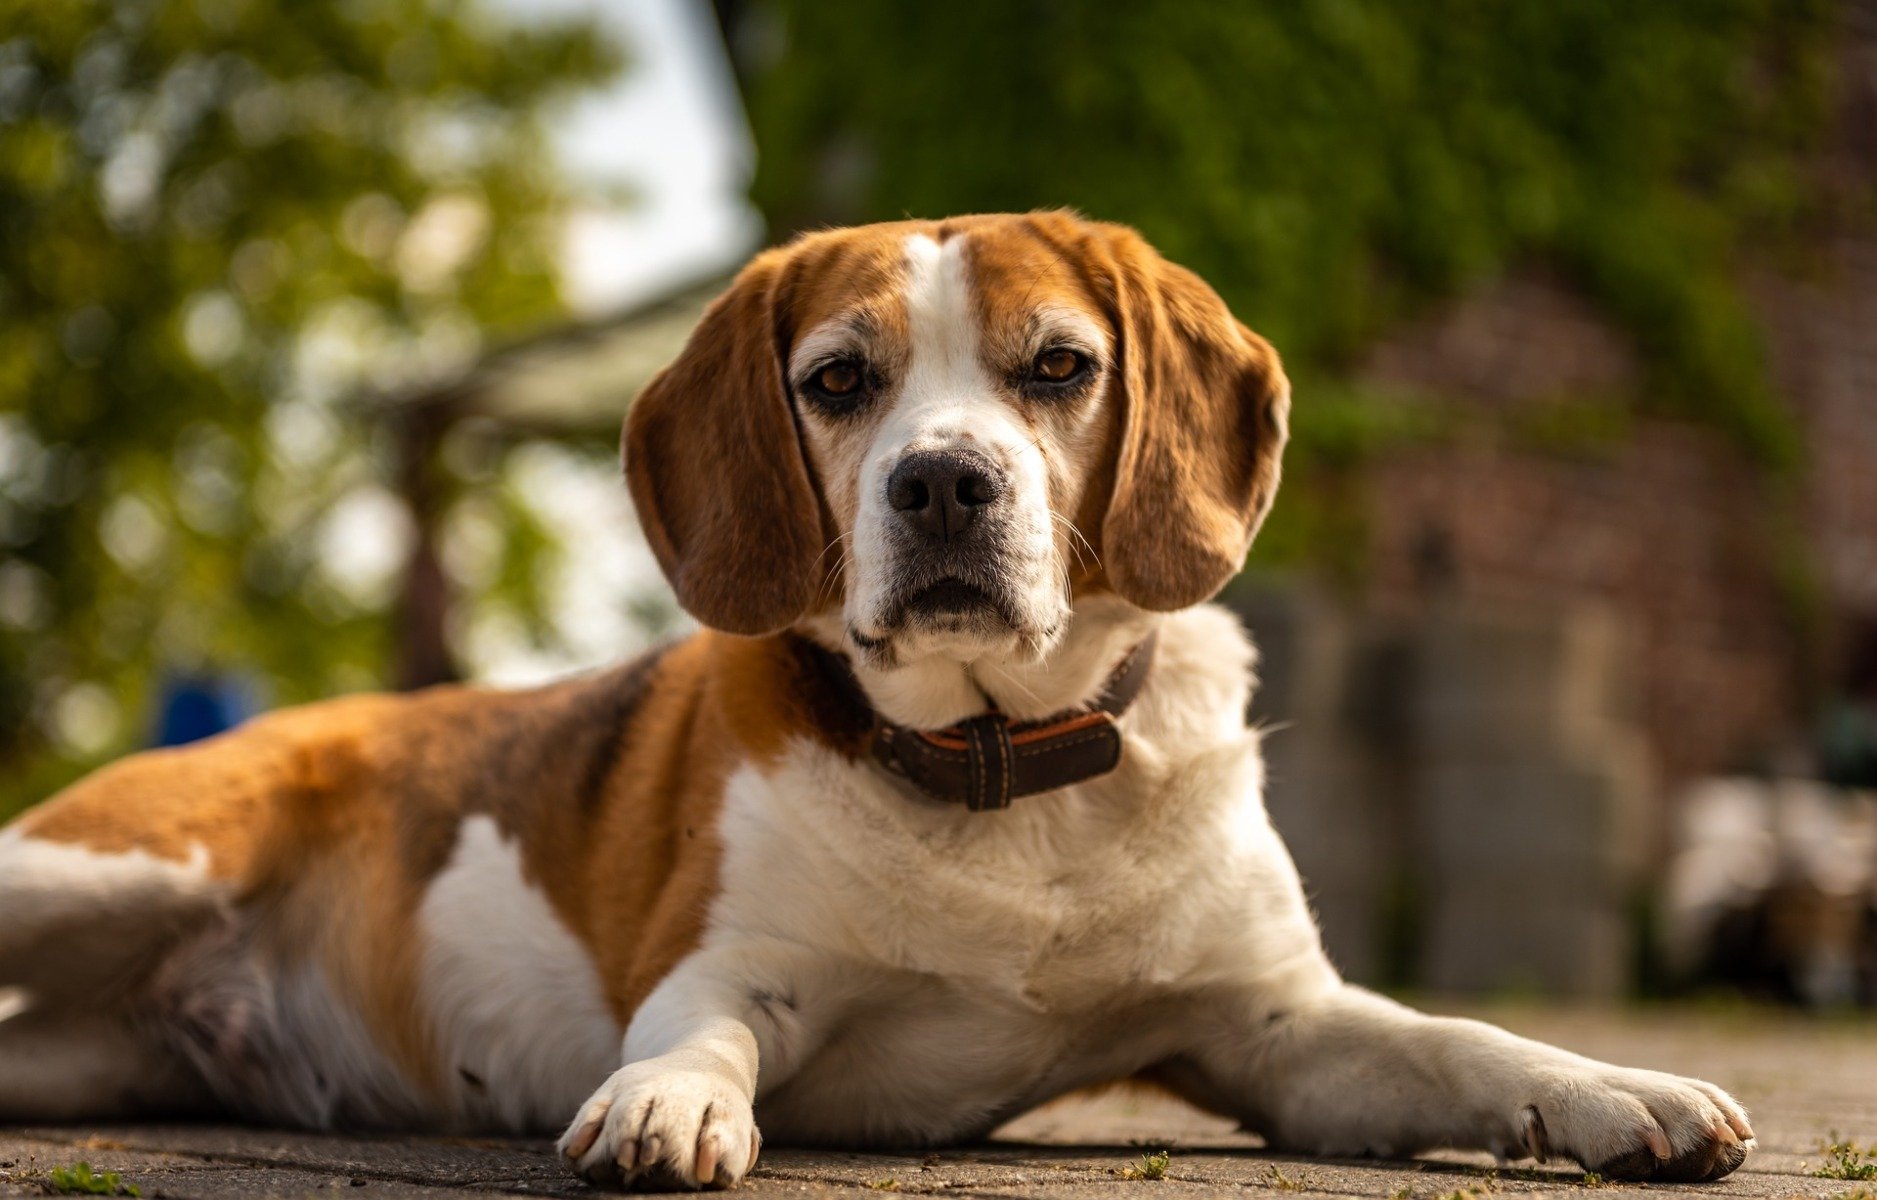
M 595 1187 L 732 1187 L 762 1146 L 749 1099 L 719 1076 L 657 1059 L 614 1072 L 580 1106 L 559 1151 Z

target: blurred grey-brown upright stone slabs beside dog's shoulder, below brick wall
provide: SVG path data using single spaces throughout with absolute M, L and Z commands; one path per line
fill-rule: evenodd
M 1616 997 L 1654 796 L 1603 605 L 1402 622 L 1246 588 L 1267 802 L 1351 978 Z

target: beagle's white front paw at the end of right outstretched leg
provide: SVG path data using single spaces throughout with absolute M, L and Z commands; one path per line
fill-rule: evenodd
M 1714 1084 L 1620 1067 L 1545 1076 L 1517 1125 L 1534 1159 L 1564 1153 L 1605 1179 L 1719 1179 L 1753 1140 L 1746 1110 Z

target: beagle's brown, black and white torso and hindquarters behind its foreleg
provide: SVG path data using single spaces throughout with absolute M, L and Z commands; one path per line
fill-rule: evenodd
M 563 1121 L 694 941 L 711 654 L 297 708 L 28 811 L 0 832 L 0 1119 Z

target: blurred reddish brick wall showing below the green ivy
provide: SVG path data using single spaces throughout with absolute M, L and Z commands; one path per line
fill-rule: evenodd
M 1806 436 L 1793 524 L 1830 633 L 1877 614 L 1877 240 L 1836 238 L 1804 280 L 1766 274 L 1751 295 Z M 1601 599 L 1633 623 L 1637 717 L 1665 787 L 1793 746 L 1806 674 L 1776 575 L 1789 533 L 1746 456 L 1654 417 L 1575 451 L 1488 432 L 1509 408 L 1640 391 L 1633 347 L 1595 310 L 1552 278 L 1503 280 L 1398 329 L 1363 377 L 1490 415 L 1368 475 L 1378 610 L 1415 612 L 1430 592 L 1494 608 Z

